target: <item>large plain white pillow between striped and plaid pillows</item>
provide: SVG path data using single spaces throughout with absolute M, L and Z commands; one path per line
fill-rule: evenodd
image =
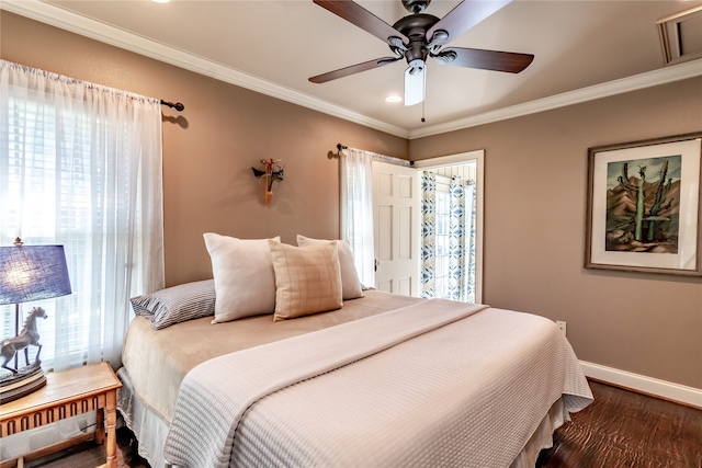
M 275 311 L 275 272 L 268 239 L 205 232 L 215 279 L 215 319 L 222 323 Z M 276 241 L 280 237 L 273 238 Z

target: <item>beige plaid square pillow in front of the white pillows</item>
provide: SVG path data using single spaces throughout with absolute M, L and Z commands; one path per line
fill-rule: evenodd
M 268 241 L 275 271 L 273 320 L 343 307 L 339 254 L 333 242 L 294 247 Z

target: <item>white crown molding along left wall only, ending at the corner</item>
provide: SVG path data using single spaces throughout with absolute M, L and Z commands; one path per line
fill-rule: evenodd
M 400 138 L 409 137 L 409 130 L 405 128 L 386 124 L 349 109 L 313 98 L 262 78 L 244 73 L 216 61 L 72 13 L 49 3 L 38 0 L 3 0 L 0 1 L 0 9 L 313 111 L 375 128 Z

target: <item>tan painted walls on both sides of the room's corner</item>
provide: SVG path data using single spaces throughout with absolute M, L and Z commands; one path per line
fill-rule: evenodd
M 486 150 L 487 304 L 568 323 L 581 359 L 702 388 L 702 281 L 582 269 L 587 148 L 702 128 L 702 79 L 406 141 L 0 11 L 0 57 L 180 101 L 163 107 L 169 285 L 211 277 L 202 233 L 339 231 L 337 142 L 400 158 Z M 271 206 L 250 167 L 283 158 Z

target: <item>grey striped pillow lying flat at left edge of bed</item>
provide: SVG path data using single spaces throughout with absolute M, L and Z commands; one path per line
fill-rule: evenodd
M 151 321 L 154 330 L 185 320 L 214 316 L 215 283 L 205 279 L 167 287 L 131 299 L 134 313 Z

